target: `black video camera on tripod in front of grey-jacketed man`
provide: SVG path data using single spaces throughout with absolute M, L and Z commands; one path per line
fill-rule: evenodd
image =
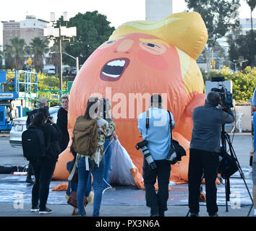
M 229 108 L 233 108 L 233 96 L 232 93 L 229 92 L 225 85 L 223 84 L 223 82 L 225 81 L 224 77 L 213 77 L 210 79 L 211 82 L 222 82 L 222 84 L 218 84 L 218 87 L 221 88 L 212 88 L 211 91 L 212 92 L 218 92 L 221 96 L 221 106 L 223 107 L 223 109 L 229 109 Z

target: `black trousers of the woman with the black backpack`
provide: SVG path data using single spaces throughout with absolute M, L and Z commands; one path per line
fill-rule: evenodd
M 49 160 L 42 160 L 40 162 L 31 161 L 35 173 L 35 183 L 32 189 L 32 206 L 38 206 L 39 209 L 46 209 L 46 203 L 49 194 L 49 186 L 51 183 L 52 175 L 54 174 L 56 162 Z

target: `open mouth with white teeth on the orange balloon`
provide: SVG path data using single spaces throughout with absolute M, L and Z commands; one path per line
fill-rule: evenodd
M 129 58 L 115 58 L 108 61 L 101 70 L 101 79 L 104 81 L 119 80 L 128 65 Z

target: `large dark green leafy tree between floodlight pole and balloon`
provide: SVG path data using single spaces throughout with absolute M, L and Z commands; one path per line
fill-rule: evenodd
M 61 25 L 64 25 L 63 17 L 60 21 Z M 106 16 L 99 14 L 98 11 L 78 13 L 69 19 L 67 27 L 77 27 L 77 36 L 64 44 L 64 51 L 71 56 L 79 57 L 80 64 L 83 64 L 99 45 L 108 40 L 114 31 Z M 75 66 L 75 60 L 69 56 L 64 55 L 63 61 L 69 66 Z

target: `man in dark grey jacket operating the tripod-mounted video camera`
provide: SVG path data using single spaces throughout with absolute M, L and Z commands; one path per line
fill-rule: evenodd
M 209 92 L 205 105 L 195 108 L 193 112 L 188 173 L 191 217 L 199 216 L 202 174 L 205 178 L 207 212 L 210 217 L 218 217 L 216 178 L 221 152 L 221 128 L 223 123 L 234 122 L 231 109 L 222 107 L 222 101 L 219 92 Z

